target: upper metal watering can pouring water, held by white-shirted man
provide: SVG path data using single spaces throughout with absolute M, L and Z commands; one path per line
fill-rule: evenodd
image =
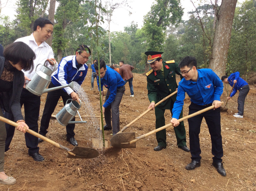
M 47 88 L 47 86 L 51 82 L 51 75 L 52 75 L 56 65 L 52 61 L 54 63 L 54 69 L 51 70 L 50 68 L 48 68 L 45 65 L 46 62 L 47 62 L 47 60 L 45 60 L 44 65 L 39 64 L 39 65 L 42 65 L 41 70 L 36 71 L 36 73 L 34 74 L 34 76 L 31 79 L 31 81 L 28 81 L 28 83 L 26 84 L 26 89 L 29 92 L 31 92 L 32 94 L 35 94 L 36 96 L 41 96 L 43 93 L 51 92 L 53 90 L 57 90 L 57 89 L 61 89 L 61 88 L 66 88 L 66 87 L 70 87 L 70 88 L 73 87 L 73 82 L 71 82 L 70 84 L 65 85 L 65 86 L 58 86 L 58 87 L 54 87 L 54 88 Z M 36 66 L 36 69 L 37 69 L 37 67 L 39 65 Z

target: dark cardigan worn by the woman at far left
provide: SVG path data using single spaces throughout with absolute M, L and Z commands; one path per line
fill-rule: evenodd
M 0 57 L 0 75 L 2 76 L 4 70 L 4 57 Z M 24 86 L 25 76 L 22 71 L 14 70 L 13 88 L 9 92 L 0 92 L 0 97 L 4 104 L 4 110 L 12 113 L 14 121 L 23 119 L 20 107 L 20 95 Z M 1 88 L 1 87 L 0 87 Z

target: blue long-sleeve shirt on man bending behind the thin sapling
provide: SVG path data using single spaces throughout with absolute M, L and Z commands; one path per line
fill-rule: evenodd
M 124 86 L 124 80 L 119 73 L 117 73 L 115 70 L 111 69 L 108 66 L 106 66 L 106 69 L 107 70 L 105 76 L 100 79 L 101 91 L 103 90 L 103 85 L 110 91 L 110 95 L 107 101 L 103 104 L 103 107 L 105 108 L 114 101 L 116 97 L 116 89 Z M 99 76 L 97 76 L 97 84 L 100 90 Z

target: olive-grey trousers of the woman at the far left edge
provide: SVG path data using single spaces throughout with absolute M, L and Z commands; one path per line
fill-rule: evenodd
M 0 116 L 4 117 L 2 110 Z M 0 172 L 4 172 L 4 149 L 5 149 L 6 129 L 5 123 L 0 121 Z

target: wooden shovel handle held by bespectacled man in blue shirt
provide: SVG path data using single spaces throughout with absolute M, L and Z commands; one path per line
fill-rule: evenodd
M 221 102 L 221 104 L 223 104 L 223 103 L 224 103 L 224 102 Z M 203 109 L 203 110 L 197 111 L 196 113 L 192 113 L 192 114 L 190 114 L 190 115 L 188 115 L 188 116 L 186 116 L 186 117 L 184 117 L 184 118 L 180 118 L 180 119 L 178 119 L 178 121 L 179 121 L 179 122 L 184 121 L 185 119 L 192 118 L 192 117 L 194 117 L 194 116 L 196 116 L 196 115 L 198 115 L 198 114 L 201 114 L 201 113 L 203 113 L 203 112 L 205 112 L 205 111 L 208 111 L 208 110 L 211 110 L 211 109 L 213 109 L 213 108 L 214 108 L 214 105 L 212 105 L 212 106 L 210 106 L 210 107 L 207 107 L 207 108 L 205 108 L 205 109 Z M 166 129 L 167 127 L 170 127 L 170 126 L 172 126 L 172 125 L 173 125 L 172 123 L 169 123 L 168 125 L 162 126 L 162 127 L 158 128 L 158 129 L 156 129 L 156 130 L 150 131 L 150 132 L 147 133 L 147 134 L 141 135 L 141 136 L 137 137 L 136 139 L 130 141 L 129 143 L 132 144 L 132 143 L 134 143 L 134 142 L 137 142 L 137 141 L 139 141 L 140 139 L 144 139 L 145 137 L 147 137 L 147 136 L 149 136 L 149 135 L 151 135 L 151 134 L 154 134 L 154 133 L 156 133 L 156 132 L 158 132 L 158 131 L 161 131 L 161 130 L 163 130 L 163 129 Z

